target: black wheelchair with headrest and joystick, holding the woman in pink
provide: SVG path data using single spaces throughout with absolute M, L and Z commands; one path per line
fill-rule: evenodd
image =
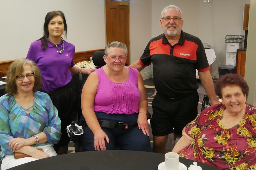
M 103 56 L 105 55 L 104 51 L 95 51 L 93 53 L 93 63 L 97 68 L 100 68 L 104 66 L 106 63 L 103 59 Z M 125 64 L 127 66 L 127 64 Z M 88 78 L 88 75 L 82 75 L 79 73 L 78 79 L 79 79 L 79 96 L 81 98 L 81 93 L 83 89 L 83 85 L 85 84 L 86 80 Z M 79 106 L 81 106 L 81 100 L 79 100 Z M 81 107 L 79 107 L 78 112 L 72 114 L 72 123 L 67 127 L 67 133 L 70 136 L 70 140 L 75 143 L 75 152 L 83 152 L 85 151 L 83 148 L 83 145 L 80 143 L 80 135 L 83 134 L 83 125 L 79 125 L 79 118 L 82 116 L 82 110 Z M 151 119 L 150 113 L 147 111 L 147 119 Z M 118 146 L 114 148 L 115 150 L 119 150 Z

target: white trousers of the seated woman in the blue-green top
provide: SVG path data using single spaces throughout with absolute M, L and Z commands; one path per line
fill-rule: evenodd
M 36 146 L 35 148 L 42 148 L 44 150 L 44 153 L 47 153 L 50 156 L 56 156 L 57 155 L 53 146 L 50 146 L 50 145 Z M 28 163 L 28 162 L 31 162 L 31 161 L 36 161 L 36 160 L 37 159 L 33 158 L 33 157 L 25 157 L 25 158 L 15 159 L 14 154 L 6 155 L 2 160 L 1 170 L 9 169 L 9 168 L 12 168 L 14 166 L 18 166 L 18 165 Z

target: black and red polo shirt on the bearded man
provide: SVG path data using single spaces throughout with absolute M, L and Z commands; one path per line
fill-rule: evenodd
M 157 93 L 177 98 L 197 90 L 196 72 L 210 69 L 199 38 L 181 31 L 178 43 L 171 46 L 164 34 L 152 38 L 140 57 L 143 66 L 153 64 Z

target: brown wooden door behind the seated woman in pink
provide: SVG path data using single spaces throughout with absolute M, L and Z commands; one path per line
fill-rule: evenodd
M 107 43 L 120 41 L 128 47 L 126 63 L 130 64 L 129 2 L 106 0 Z

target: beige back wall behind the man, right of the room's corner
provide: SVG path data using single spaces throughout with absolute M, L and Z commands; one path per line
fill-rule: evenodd
M 217 60 L 211 65 L 212 75 L 219 77 L 218 65 L 226 61 L 225 36 L 244 35 L 242 28 L 244 4 L 250 0 L 152 0 L 152 37 L 162 33 L 159 18 L 167 5 L 176 5 L 183 12 L 183 30 L 197 36 L 214 49 Z

